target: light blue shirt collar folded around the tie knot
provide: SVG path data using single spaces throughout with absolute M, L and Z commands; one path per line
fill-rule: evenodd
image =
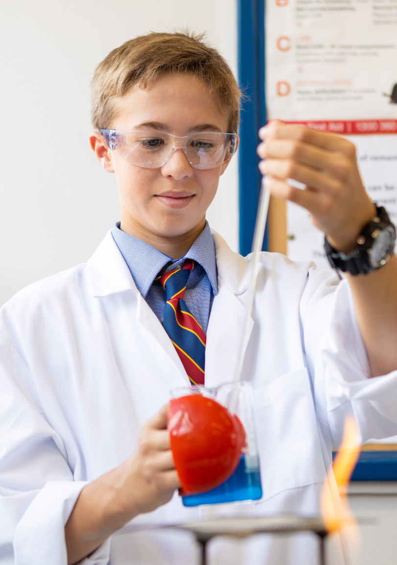
M 144 241 L 138 240 L 137 237 L 122 232 L 120 222 L 112 228 L 112 236 L 143 298 L 146 298 L 154 279 L 167 263 L 175 263 L 187 258 L 200 263 L 210 279 L 213 294 L 217 294 L 215 245 L 207 221 L 203 231 L 181 259 L 172 259 Z

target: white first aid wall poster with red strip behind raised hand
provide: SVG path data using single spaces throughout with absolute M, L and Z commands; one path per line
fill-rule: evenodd
M 268 119 L 346 136 L 365 188 L 397 221 L 397 0 L 269 0 Z M 323 236 L 287 203 L 287 254 L 326 264 Z

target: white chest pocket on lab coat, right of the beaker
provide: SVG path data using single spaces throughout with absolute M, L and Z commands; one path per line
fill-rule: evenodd
M 326 471 L 306 368 L 255 390 L 263 500 L 320 483 Z

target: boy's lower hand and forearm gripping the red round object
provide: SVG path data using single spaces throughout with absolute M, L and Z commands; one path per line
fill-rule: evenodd
M 68 565 L 92 553 L 138 514 L 167 503 L 181 486 L 167 418 L 168 405 L 142 425 L 136 449 L 124 463 L 82 489 L 65 526 Z

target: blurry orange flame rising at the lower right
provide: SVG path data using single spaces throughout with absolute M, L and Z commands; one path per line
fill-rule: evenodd
M 356 524 L 347 500 L 347 487 L 360 455 L 359 432 L 351 416 L 344 422 L 343 439 L 322 489 L 321 516 L 328 532 Z

